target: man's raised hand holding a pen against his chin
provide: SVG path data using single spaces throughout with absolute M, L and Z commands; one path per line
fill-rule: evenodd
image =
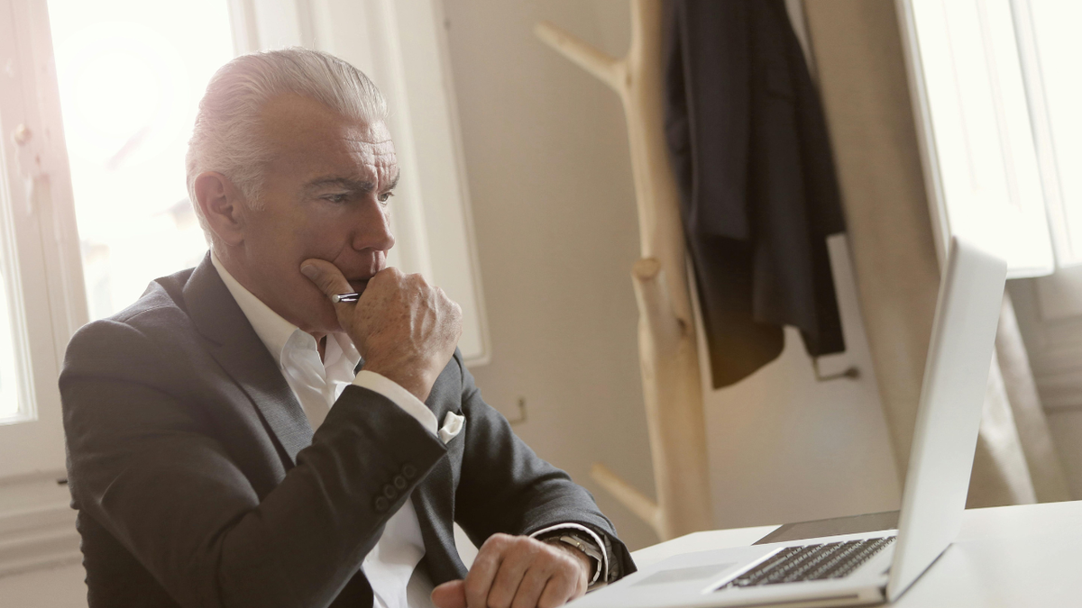
M 325 260 L 305 260 L 301 272 L 328 298 L 354 290 Z M 428 398 L 462 335 L 462 308 L 444 290 L 421 275 L 387 267 L 369 279 L 355 304 L 333 306 L 366 370 L 397 382 L 422 401 Z

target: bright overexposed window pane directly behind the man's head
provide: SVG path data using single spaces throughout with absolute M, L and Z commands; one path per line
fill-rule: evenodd
M 49 0 L 90 317 L 207 251 L 184 155 L 233 57 L 227 0 Z

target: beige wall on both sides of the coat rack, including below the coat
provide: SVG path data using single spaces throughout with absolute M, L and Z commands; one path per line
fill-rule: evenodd
M 637 259 L 623 115 L 613 93 L 531 34 L 549 19 L 601 49 L 628 44 L 625 0 L 445 0 L 488 305 L 486 399 L 597 498 L 632 547 L 652 532 L 589 478 L 604 461 L 652 494 L 638 375 Z M 897 508 L 899 485 L 844 247 L 843 326 L 858 381 L 816 382 L 803 345 L 707 398 L 715 525 Z M 701 341 L 700 341 L 701 342 Z

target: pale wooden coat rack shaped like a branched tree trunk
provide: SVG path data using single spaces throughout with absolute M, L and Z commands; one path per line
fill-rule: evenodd
M 712 528 L 702 384 L 684 259 L 679 194 L 662 103 L 660 0 L 634 0 L 631 48 L 611 57 L 550 23 L 537 36 L 620 95 L 628 122 L 642 259 L 631 270 L 657 501 L 602 463 L 591 474 L 661 540 Z

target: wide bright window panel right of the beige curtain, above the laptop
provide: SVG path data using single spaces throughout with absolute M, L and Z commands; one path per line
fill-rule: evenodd
M 1008 277 L 1055 268 L 1011 0 L 900 0 L 940 260 L 953 234 Z

